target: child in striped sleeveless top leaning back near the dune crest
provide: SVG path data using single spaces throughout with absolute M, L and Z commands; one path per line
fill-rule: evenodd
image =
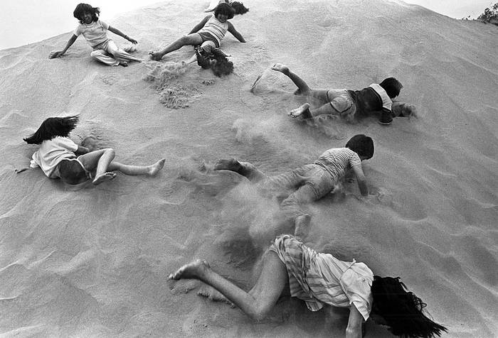
M 184 45 L 201 45 L 203 49 L 206 49 L 207 45 L 211 45 L 212 48 L 219 48 L 221 40 L 223 40 L 227 31 L 232 33 L 241 43 L 245 43 L 243 36 L 238 31 L 235 31 L 232 23 L 228 22 L 234 15 L 235 9 L 232 6 L 224 2 L 218 4 L 213 15 L 203 18 L 200 23 L 192 28 L 188 35 L 174 40 L 173 43 L 159 52 L 150 52 L 149 55 L 151 55 L 152 60 L 159 61 L 164 55 L 178 50 Z

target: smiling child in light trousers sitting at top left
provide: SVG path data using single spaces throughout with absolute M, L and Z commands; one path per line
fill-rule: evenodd
M 118 36 L 125 38 L 134 45 L 137 44 L 137 40 L 125 35 L 119 29 L 109 26 L 104 21 L 100 21 L 99 14 L 100 9 L 98 9 L 98 7 L 92 7 L 89 4 L 79 4 L 76 6 L 73 15 L 80 21 L 80 24 L 75 29 L 73 36 L 70 37 L 65 48 L 58 52 L 52 52 L 48 58 L 59 58 L 64 55 L 66 50 L 73 45 L 78 36 L 83 34 L 90 47 L 93 48 L 90 56 L 95 58 L 95 60 L 110 66 L 122 65 L 124 67 L 127 67 L 127 61 L 129 60 L 142 61 L 142 59 L 135 58 L 133 55 L 127 53 L 134 51 L 136 49 L 134 46 L 130 45 L 128 48 L 125 48 L 125 50 L 121 50 L 117 47 L 115 42 L 107 36 L 107 31 L 111 31 Z

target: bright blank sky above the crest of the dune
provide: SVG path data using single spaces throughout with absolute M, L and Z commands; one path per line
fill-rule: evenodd
M 0 20 L 0 49 L 26 45 L 72 31 L 77 24 L 76 19 L 73 18 L 73 11 L 82 1 L 1 0 L 4 16 Z M 103 20 L 111 21 L 120 13 L 163 1 L 97 0 L 93 2 L 92 0 L 88 2 L 100 7 L 100 17 Z M 206 6 L 209 3 L 208 0 L 201 1 L 206 2 Z M 241 1 L 250 8 L 250 0 Z M 498 0 L 405 0 L 405 2 L 424 6 L 452 18 L 467 16 L 477 18 L 485 8 L 492 6 Z

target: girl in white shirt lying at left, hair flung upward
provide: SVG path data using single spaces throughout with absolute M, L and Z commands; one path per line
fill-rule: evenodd
M 156 175 L 164 167 L 164 159 L 153 165 L 125 165 L 114 161 L 115 151 L 105 148 L 92 151 L 78 146 L 69 133 L 78 124 L 78 116 L 49 117 L 31 136 L 23 138 L 28 144 L 39 144 L 33 153 L 31 168 L 40 167 L 48 178 L 60 178 L 69 185 L 92 179 L 94 185 L 112 180 L 117 170 L 124 175 Z

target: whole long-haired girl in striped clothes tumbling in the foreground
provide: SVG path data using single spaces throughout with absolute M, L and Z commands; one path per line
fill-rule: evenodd
M 263 320 L 275 306 L 285 285 L 292 297 L 304 300 L 309 310 L 324 305 L 349 307 L 346 337 L 362 337 L 369 317 L 401 337 L 435 337 L 447 332 L 423 313 L 426 304 L 406 290 L 399 278 L 373 276 L 364 263 L 339 261 L 317 253 L 295 237 L 280 235 L 263 257 L 253 288 L 246 292 L 218 275 L 206 261 L 179 268 L 169 279 L 193 278 L 211 285 L 254 320 Z

